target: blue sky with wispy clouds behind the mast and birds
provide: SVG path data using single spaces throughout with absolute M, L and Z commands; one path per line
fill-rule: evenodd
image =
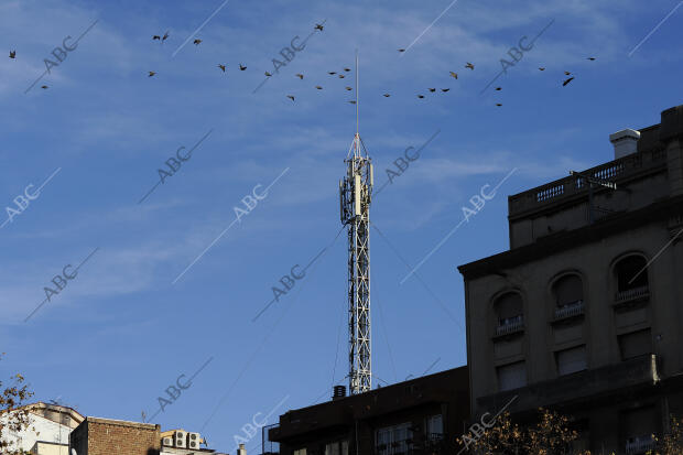
M 180 375 L 212 359 L 153 422 L 200 430 L 226 452 L 256 413 L 282 403 L 275 421 L 346 383 L 345 235 L 335 237 L 337 181 L 356 121 L 347 102 L 354 90 L 344 86 L 354 86 L 355 72 L 344 80 L 327 72 L 354 68 L 356 48 L 360 133 L 376 185 L 408 147 L 440 131 L 371 208 L 383 235 L 371 232 L 375 383 L 466 362 L 456 266 L 508 248 L 508 195 L 609 161 L 609 133 L 658 123 L 662 110 L 683 102 L 683 8 L 632 52 L 677 1 L 230 0 L 214 14 L 223 3 L 0 3 L 2 52 L 17 50 L 15 59 L 0 59 L 3 207 L 17 208 L 28 185 L 35 194 L 56 172 L 0 229 L 0 375 L 22 372 L 35 399 L 61 397 L 87 415 L 139 421 L 159 410 L 158 397 Z M 209 17 L 196 34 L 202 43 L 173 56 Z M 96 20 L 24 93 L 45 72 L 44 59 L 55 61 L 52 50 Z M 324 31 L 254 94 L 280 51 L 323 20 Z M 509 48 L 551 21 L 480 94 L 500 59 L 511 61 Z M 152 41 L 165 31 L 163 44 Z M 218 64 L 227 64 L 225 74 Z M 564 71 L 575 75 L 566 87 Z M 164 162 L 209 131 L 138 204 Z M 507 175 L 420 268 L 422 282 L 400 284 L 462 221 L 468 199 Z M 241 199 L 275 178 L 234 223 Z M 325 247 L 306 277 L 252 322 L 280 278 Z M 93 251 L 24 322 L 51 280 Z M 259 441 L 248 443 L 250 453 Z

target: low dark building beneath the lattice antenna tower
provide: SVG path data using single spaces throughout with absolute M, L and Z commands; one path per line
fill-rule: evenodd
M 469 421 L 467 367 L 288 411 L 268 431 L 280 455 L 409 455 L 457 453 Z

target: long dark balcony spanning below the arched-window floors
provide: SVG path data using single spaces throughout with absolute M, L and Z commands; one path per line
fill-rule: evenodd
M 477 398 L 477 407 L 494 412 L 517 399 L 509 407 L 511 413 L 548 408 L 561 403 L 597 405 L 599 400 L 614 401 L 638 390 L 647 390 L 659 382 L 658 357 L 647 355 L 619 364 L 561 376 L 519 389 L 506 390 Z

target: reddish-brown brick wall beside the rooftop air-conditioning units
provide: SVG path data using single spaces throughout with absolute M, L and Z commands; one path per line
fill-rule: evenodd
M 87 418 L 71 434 L 78 455 L 159 455 L 161 427 L 151 423 Z

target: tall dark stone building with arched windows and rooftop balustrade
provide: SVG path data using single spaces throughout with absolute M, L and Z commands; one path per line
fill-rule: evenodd
M 593 453 L 640 454 L 683 413 L 683 106 L 610 141 L 510 196 L 509 251 L 458 268 L 471 409 L 555 408 Z

